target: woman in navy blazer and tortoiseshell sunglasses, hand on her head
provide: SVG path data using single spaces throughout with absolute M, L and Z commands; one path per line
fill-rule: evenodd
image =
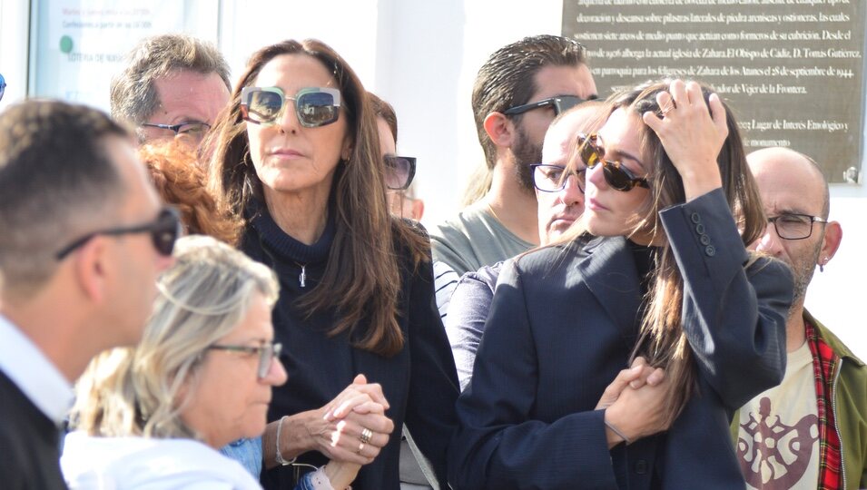
M 744 487 L 729 421 L 783 377 L 791 273 L 744 248 L 764 214 L 716 94 L 659 82 L 608 103 L 581 137 L 582 220 L 500 275 L 458 399 L 456 488 Z M 637 356 L 665 381 L 594 410 Z

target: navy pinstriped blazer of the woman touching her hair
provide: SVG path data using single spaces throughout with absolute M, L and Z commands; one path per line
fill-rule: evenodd
M 698 393 L 670 430 L 608 451 L 605 387 L 626 367 L 640 285 L 623 238 L 549 248 L 500 275 L 449 447 L 455 488 L 743 488 L 732 411 L 778 384 L 792 298 L 783 263 L 748 255 L 722 191 L 660 213 L 685 279 Z

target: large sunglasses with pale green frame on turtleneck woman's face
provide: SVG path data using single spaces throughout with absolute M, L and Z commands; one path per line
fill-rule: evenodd
M 276 124 L 288 103 L 294 101 L 295 115 L 305 128 L 318 128 L 340 117 L 340 91 L 332 88 L 303 88 L 287 97 L 280 87 L 245 87 L 241 90 L 241 117 L 263 126 Z

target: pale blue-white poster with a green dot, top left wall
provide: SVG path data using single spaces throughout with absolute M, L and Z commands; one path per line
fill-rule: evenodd
M 216 40 L 217 3 L 182 0 L 34 1 L 30 90 L 109 109 L 109 87 L 123 58 L 144 37 L 187 33 Z

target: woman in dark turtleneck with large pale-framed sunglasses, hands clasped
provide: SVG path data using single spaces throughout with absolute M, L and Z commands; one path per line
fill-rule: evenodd
M 315 40 L 262 48 L 204 143 L 210 185 L 245 222 L 242 249 L 281 279 L 289 381 L 262 439 L 267 488 L 307 465 L 363 465 L 353 488 L 399 487 L 404 423 L 445 486 L 457 375 L 433 302 L 429 244 L 389 215 L 369 98 Z

